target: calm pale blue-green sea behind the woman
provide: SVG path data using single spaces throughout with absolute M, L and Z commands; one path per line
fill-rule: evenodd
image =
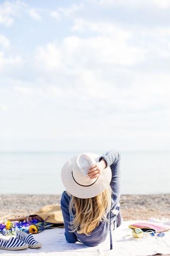
M 61 194 L 61 168 L 80 153 L 0 152 L 0 194 Z M 121 152 L 121 194 L 167 193 L 169 151 Z

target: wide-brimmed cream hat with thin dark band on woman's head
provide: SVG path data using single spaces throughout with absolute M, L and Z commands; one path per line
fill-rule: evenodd
M 61 170 L 66 191 L 78 198 L 92 198 L 102 193 L 111 182 L 111 168 L 105 168 L 98 178 L 90 179 L 86 174 L 99 158 L 98 154 L 83 153 L 68 160 Z

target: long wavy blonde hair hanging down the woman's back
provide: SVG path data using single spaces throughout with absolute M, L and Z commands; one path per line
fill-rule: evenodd
M 73 220 L 70 222 L 70 232 L 76 231 L 78 234 L 88 236 L 99 226 L 100 222 L 108 221 L 107 214 L 111 208 L 112 193 L 109 185 L 102 193 L 93 198 L 72 196 L 69 205 L 69 212 L 73 215 Z

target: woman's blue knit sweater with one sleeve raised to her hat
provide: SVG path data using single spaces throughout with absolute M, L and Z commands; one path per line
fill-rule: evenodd
M 110 166 L 112 172 L 112 178 L 110 182 L 110 186 L 113 190 L 111 209 L 114 210 L 117 208 L 121 194 L 120 153 L 117 150 L 112 149 L 100 156 L 99 161 L 102 160 L 102 158 L 106 161 L 107 166 Z M 61 210 L 64 218 L 64 235 L 66 241 L 69 243 L 75 243 L 78 241 L 87 246 L 97 246 L 98 244 L 104 242 L 109 231 L 109 223 L 106 222 L 106 220 L 104 222 L 100 222 L 99 226 L 91 232 L 90 236 L 86 236 L 85 234 L 78 234 L 77 232 L 69 232 L 71 230 L 68 225 L 72 220 L 72 215 L 70 215 L 68 210 L 70 199 L 71 195 L 64 191 L 61 196 Z M 117 216 L 115 216 L 113 212 L 111 213 L 111 224 L 113 224 L 113 221 L 115 220 L 117 224 L 116 226 L 118 227 L 121 225 L 123 219 L 121 217 L 120 211 Z M 109 214 L 107 217 L 109 217 Z

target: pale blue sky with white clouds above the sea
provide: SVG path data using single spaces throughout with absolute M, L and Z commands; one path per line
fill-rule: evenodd
M 0 0 L 0 151 L 170 150 L 169 0 Z

